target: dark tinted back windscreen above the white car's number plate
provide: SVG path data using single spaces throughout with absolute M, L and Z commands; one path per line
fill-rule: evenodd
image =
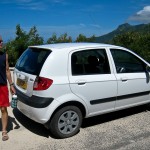
M 41 48 L 28 48 L 18 59 L 15 68 L 19 71 L 39 75 L 41 68 L 51 53 L 50 50 Z

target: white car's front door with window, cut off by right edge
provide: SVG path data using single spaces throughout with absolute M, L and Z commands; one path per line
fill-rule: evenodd
M 110 51 L 116 66 L 118 82 L 116 108 L 150 101 L 150 81 L 146 62 L 128 50 L 111 49 Z

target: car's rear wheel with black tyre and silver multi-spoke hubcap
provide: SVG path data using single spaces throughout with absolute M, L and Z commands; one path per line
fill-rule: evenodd
M 82 124 L 82 113 L 76 106 L 65 106 L 59 109 L 50 121 L 50 132 L 56 138 L 68 138 L 79 132 Z

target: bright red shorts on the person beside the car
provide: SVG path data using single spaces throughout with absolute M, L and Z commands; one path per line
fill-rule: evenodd
M 0 85 L 0 107 L 9 107 L 9 92 L 7 85 Z

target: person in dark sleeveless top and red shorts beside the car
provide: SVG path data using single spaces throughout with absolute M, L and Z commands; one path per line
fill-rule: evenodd
M 16 93 L 13 86 L 11 73 L 9 70 L 8 54 L 2 52 L 3 40 L 0 36 L 0 110 L 1 110 L 1 120 L 2 120 L 2 140 L 6 141 L 9 139 L 7 134 L 7 124 L 8 124 L 8 111 L 7 107 L 9 104 L 9 92 L 7 87 L 7 80 L 10 85 L 10 91 L 12 94 Z

